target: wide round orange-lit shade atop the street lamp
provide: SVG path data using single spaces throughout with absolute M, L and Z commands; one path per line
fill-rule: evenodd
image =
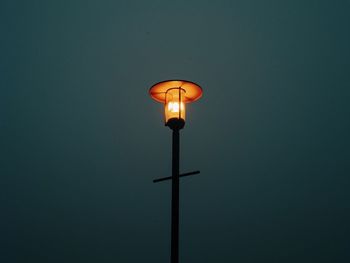
M 158 82 L 149 89 L 149 94 L 155 101 L 165 103 L 167 91 L 178 88 L 184 91 L 183 102 L 185 103 L 194 102 L 203 94 L 201 86 L 188 80 L 165 80 Z

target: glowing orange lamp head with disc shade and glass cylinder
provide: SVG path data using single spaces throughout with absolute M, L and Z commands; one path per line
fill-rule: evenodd
M 196 101 L 202 96 L 202 88 L 186 80 L 168 80 L 153 85 L 151 97 L 164 103 L 165 124 L 171 119 L 185 121 L 186 103 Z

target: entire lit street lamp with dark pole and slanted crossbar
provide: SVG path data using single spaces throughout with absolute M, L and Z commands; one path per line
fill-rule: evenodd
M 164 104 L 165 126 L 173 131 L 172 137 L 172 176 L 153 180 L 172 181 L 171 187 L 171 263 L 179 262 L 179 178 L 198 174 L 199 171 L 180 174 L 180 130 L 185 126 L 186 103 L 198 100 L 202 88 L 186 80 L 167 80 L 153 85 L 150 96 Z

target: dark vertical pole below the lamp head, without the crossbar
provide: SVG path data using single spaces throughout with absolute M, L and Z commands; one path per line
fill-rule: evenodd
M 179 262 L 179 159 L 180 132 L 173 129 L 171 193 L 171 263 Z

